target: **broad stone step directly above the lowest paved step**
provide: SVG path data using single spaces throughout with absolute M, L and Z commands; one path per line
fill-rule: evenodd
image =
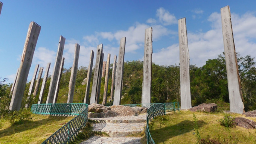
M 136 136 L 144 132 L 146 123 L 95 123 L 93 131 L 105 132 L 110 137 Z

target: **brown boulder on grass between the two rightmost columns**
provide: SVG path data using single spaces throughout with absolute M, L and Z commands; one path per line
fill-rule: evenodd
M 198 106 L 194 106 L 193 108 L 189 109 L 192 112 L 196 111 L 204 111 L 204 112 L 215 112 L 217 110 L 216 103 L 202 103 Z

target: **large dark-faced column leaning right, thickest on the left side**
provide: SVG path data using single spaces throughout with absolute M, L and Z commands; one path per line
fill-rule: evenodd
M 12 93 L 12 100 L 9 106 L 9 110 L 11 111 L 20 110 L 22 97 L 26 87 L 27 76 L 29 74 L 29 69 L 32 63 L 40 30 L 41 26 L 39 26 L 37 23 L 34 21 L 30 23 L 23 53 L 21 55 L 20 70 L 18 72 L 17 81 Z

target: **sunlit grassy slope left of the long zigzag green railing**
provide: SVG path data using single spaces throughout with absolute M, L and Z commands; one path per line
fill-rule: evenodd
M 0 144 L 39 144 L 74 117 L 32 114 L 32 121 L 11 126 L 0 119 Z

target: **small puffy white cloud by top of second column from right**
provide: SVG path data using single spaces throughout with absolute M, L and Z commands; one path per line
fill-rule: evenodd
M 164 8 L 157 9 L 156 15 L 159 18 L 159 21 L 162 22 L 165 26 L 178 23 L 174 14 L 170 14 L 169 11 L 166 11 Z

